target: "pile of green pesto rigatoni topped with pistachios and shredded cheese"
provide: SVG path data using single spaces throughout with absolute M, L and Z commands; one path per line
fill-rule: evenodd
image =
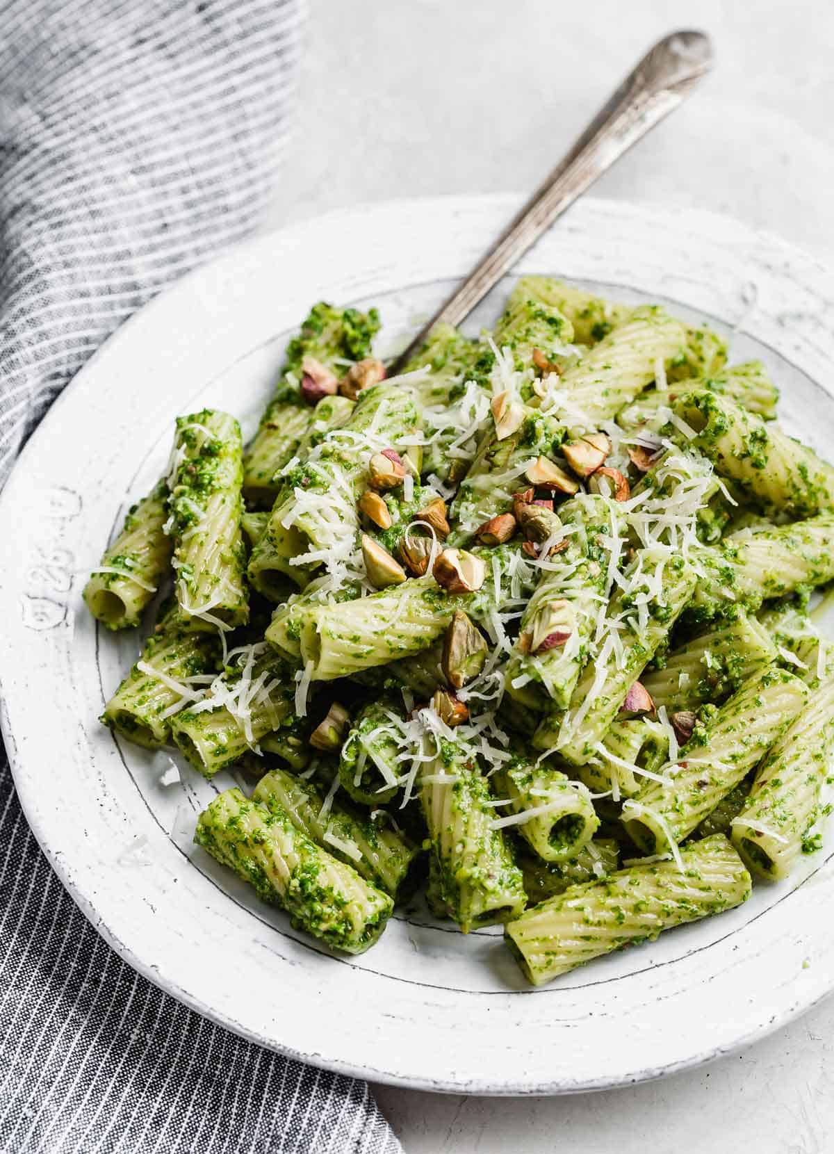
M 84 590 L 107 629 L 173 590 L 103 722 L 243 774 L 195 840 L 337 951 L 428 875 L 539 984 L 788 877 L 831 809 L 834 469 L 765 367 L 541 276 L 403 374 L 378 328 L 315 305 L 246 455 L 178 419 Z

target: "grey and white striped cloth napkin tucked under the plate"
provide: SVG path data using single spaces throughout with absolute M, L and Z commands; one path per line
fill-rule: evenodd
M 300 2 L 0 0 L 0 482 L 102 342 L 257 223 Z M 3 1154 L 400 1151 L 365 1084 L 129 969 L 40 854 L 5 759 L 0 810 Z

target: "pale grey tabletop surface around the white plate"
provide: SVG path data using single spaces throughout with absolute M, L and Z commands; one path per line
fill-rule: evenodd
M 392 196 L 529 189 L 675 27 L 712 33 L 715 72 L 595 192 L 727 212 L 834 265 L 825 0 L 313 0 L 300 129 L 269 225 Z M 375 1089 L 406 1154 L 724 1154 L 742 1140 L 829 1154 L 834 999 L 741 1055 L 634 1088 Z

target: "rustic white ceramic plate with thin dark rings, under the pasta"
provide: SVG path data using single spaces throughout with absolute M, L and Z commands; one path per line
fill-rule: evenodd
M 834 983 L 832 845 L 742 908 L 525 987 L 495 930 L 464 937 L 420 906 L 336 959 L 190 844 L 225 788 L 96 720 L 136 635 L 99 631 L 85 572 L 158 477 L 176 413 L 218 405 L 251 430 L 287 334 L 320 299 L 376 302 L 399 343 L 516 208 L 510 197 L 365 207 L 260 238 L 125 325 L 37 430 L 0 503 L 3 734 L 27 816 L 63 884 L 136 969 L 265 1046 L 427 1089 L 541 1094 L 679 1070 L 749 1042 Z M 783 417 L 834 456 L 834 288 L 810 257 L 730 220 L 584 201 L 521 272 L 668 301 L 760 355 Z M 489 322 L 501 293 L 473 317 Z M 747 335 L 750 334 L 750 335 Z M 827 911 L 827 912 L 826 912 Z

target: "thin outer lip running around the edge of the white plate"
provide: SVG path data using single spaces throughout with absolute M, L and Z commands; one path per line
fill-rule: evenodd
M 446 196 L 414 196 L 406 198 L 388 200 L 382 202 L 370 202 L 360 205 L 353 205 L 350 208 L 343 208 L 328 212 L 321 216 L 308 218 L 306 220 L 292 223 L 283 228 L 271 230 L 270 232 L 260 233 L 239 245 L 232 246 L 225 249 L 223 253 L 215 256 L 211 261 L 200 264 L 197 268 L 189 271 L 186 276 L 181 277 L 174 282 L 171 286 L 161 291 L 157 297 L 155 297 L 148 305 L 141 308 L 137 313 L 133 314 L 123 324 L 121 324 L 114 334 L 96 351 L 96 353 L 87 361 L 82 369 L 75 375 L 73 381 L 62 390 L 61 395 L 55 399 L 48 412 L 45 414 L 44 419 L 40 421 L 39 426 L 35 429 L 32 435 L 29 437 L 27 444 L 24 445 L 17 462 L 13 469 L 12 475 L 17 472 L 22 472 L 24 467 L 28 466 L 30 459 L 33 459 L 40 450 L 42 442 L 45 441 L 46 436 L 50 434 L 53 427 L 58 425 L 60 420 L 60 414 L 62 412 L 61 406 L 66 403 L 72 403 L 74 394 L 78 387 L 78 382 L 83 383 L 84 376 L 88 374 L 91 367 L 93 367 L 98 360 L 105 355 L 111 344 L 120 338 L 128 328 L 141 324 L 148 316 L 148 314 L 153 310 L 165 310 L 170 307 L 171 298 L 176 293 L 188 295 L 189 287 L 193 283 L 200 279 L 201 276 L 205 273 L 209 267 L 219 267 L 224 262 L 228 262 L 234 265 L 235 262 L 240 261 L 245 254 L 251 254 L 257 252 L 257 249 L 269 242 L 276 242 L 279 238 L 288 237 L 301 237 L 299 243 L 303 243 L 303 234 L 308 233 L 310 235 L 315 234 L 316 230 L 321 227 L 325 222 L 332 224 L 333 222 L 346 220 L 355 217 L 363 217 L 367 219 L 368 212 L 373 211 L 385 211 L 398 209 L 400 211 L 407 211 L 410 209 L 416 210 L 428 210 L 429 208 L 438 208 L 451 210 L 452 207 L 458 208 L 461 211 L 466 211 L 467 208 L 475 205 L 488 204 L 493 208 L 506 210 L 508 217 L 512 210 L 518 205 L 519 197 L 514 194 L 487 194 L 487 195 L 446 195 Z M 634 204 L 628 201 L 619 201 L 614 198 L 596 198 L 586 197 L 584 200 L 586 205 L 604 207 L 607 211 L 624 212 L 638 215 L 656 215 L 663 217 L 667 220 L 690 220 L 700 222 L 704 226 L 713 224 L 715 227 L 731 224 L 738 230 L 743 242 L 758 242 L 771 247 L 776 252 L 784 253 L 786 256 L 790 256 L 792 260 L 801 260 L 807 262 L 809 265 L 813 265 L 817 270 L 822 271 L 825 275 L 829 275 L 826 265 L 822 262 L 817 261 L 810 254 L 804 253 L 796 246 L 789 245 L 788 242 L 773 237 L 768 233 L 760 232 L 758 230 L 752 230 L 750 226 L 742 223 L 732 220 L 732 218 L 713 212 L 705 212 L 702 210 L 690 210 L 690 209 L 662 209 L 656 208 L 651 204 Z M 570 216 L 566 218 L 570 222 Z M 559 228 L 557 224 L 555 231 Z M 809 376 L 812 374 L 809 373 Z M 812 380 L 822 388 L 826 388 L 825 383 L 818 377 L 812 376 Z M 831 388 L 826 388 L 826 391 L 831 394 Z M 10 478 L 9 478 L 10 480 Z M 7 495 L 10 492 L 9 484 L 5 486 L 3 493 L 0 494 L 0 515 L 6 512 L 6 504 L 10 500 Z M 5 600 L 3 595 L 0 595 L 0 604 Z M 598 1081 L 584 1080 L 581 1086 L 566 1085 L 564 1081 L 555 1081 L 551 1084 L 535 1084 L 527 1085 L 521 1081 L 516 1081 L 512 1078 L 508 1078 L 503 1084 L 497 1085 L 491 1081 L 480 1081 L 480 1080 L 466 1080 L 458 1079 L 453 1082 L 437 1082 L 430 1079 L 416 1079 L 412 1074 L 397 1074 L 391 1071 L 382 1071 L 378 1069 L 373 1069 L 367 1064 L 354 1064 L 346 1062 L 340 1058 L 326 1058 L 321 1054 L 310 1054 L 303 1050 L 299 1050 L 277 1041 L 275 1037 L 266 1035 L 258 1035 L 250 1028 L 245 1028 L 236 1024 L 234 1019 L 230 1018 L 221 1010 L 202 1002 L 200 998 L 194 997 L 187 989 L 171 981 L 170 977 L 163 979 L 161 975 L 156 972 L 153 964 L 145 961 L 143 957 L 134 951 L 130 944 L 123 942 L 110 926 L 99 916 L 96 905 L 90 896 L 82 892 L 82 889 L 69 871 L 69 865 L 65 861 L 59 845 L 51 841 L 48 832 L 43 827 L 40 822 L 40 815 L 38 805 L 36 804 L 36 799 L 33 793 L 37 788 L 36 778 L 25 770 L 17 752 L 17 742 L 12 729 L 10 719 L 7 709 L 7 695 L 3 692 L 7 684 L 9 683 L 9 676 L 2 668 L 2 659 L 5 650 L 0 646 L 0 694 L 2 694 L 2 704 L 0 706 L 0 729 L 2 730 L 3 740 L 6 742 L 6 749 L 9 758 L 9 764 L 12 769 L 12 774 L 14 778 L 15 788 L 17 790 L 21 805 L 24 811 L 24 816 L 32 830 L 38 845 L 47 857 L 52 869 L 57 872 L 59 879 L 63 887 L 69 892 L 76 906 L 84 914 L 87 920 L 93 926 L 93 928 L 105 938 L 108 945 L 115 950 L 115 952 L 136 972 L 141 973 L 144 977 L 151 981 L 158 988 L 165 990 L 171 996 L 175 997 L 178 1001 L 188 1005 L 190 1009 L 195 1010 L 203 1017 L 216 1021 L 218 1025 L 238 1034 L 239 1036 L 246 1037 L 250 1041 L 256 1042 L 268 1049 L 276 1050 L 278 1052 L 285 1054 L 287 1057 L 295 1058 L 296 1061 L 302 1061 L 311 1063 L 314 1065 L 323 1066 L 329 1070 L 337 1071 L 343 1074 L 348 1074 L 359 1078 L 366 1078 L 371 1081 L 382 1081 L 390 1085 L 401 1086 L 412 1089 L 426 1089 L 426 1091 L 441 1091 L 449 1093 L 473 1093 L 473 1094 L 484 1094 L 484 1095 L 512 1095 L 512 1096 L 526 1096 L 533 1094 L 563 1094 L 563 1093 L 577 1093 L 578 1091 L 596 1091 L 611 1088 L 615 1086 L 636 1084 L 638 1081 L 651 1080 L 654 1078 L 663 1077 L 667 1073 L 679 1072 L 685 1069 L 691 1069 L 704 1064 L 713 1058 L 716 1058 L 723 1054 L 735 1052 L 736 1050 L 751 1044 L 759 1037 L 764 1037 L 772 1033 L 774 1029 L 787 1022 L 799 1017 L 802 1013 L 807 1012 L 813 1006 L 818 1005 L 825 997 L 834 991 L 834 979 L 832 979 L 831 984 L 827 989 L 822 989 L 816 992 L 813 997 L 803 999 L 797 997 L 794 1005 L 782 1010 L 781 1013 L 775 1014 L 772 1019 L 764 1024 L 752 1027 L 747 1033 L 737 1037 L 731 1046 L 707 1048 L 699 1051 L 696 1055 L 691 1055 L 678 1063 L 667 1064 L 662 1067 L 643 1067 L 628 1077 L 608 1077 L 600 1079 Z M 30 796 L 30 789 L 32 795 Z

